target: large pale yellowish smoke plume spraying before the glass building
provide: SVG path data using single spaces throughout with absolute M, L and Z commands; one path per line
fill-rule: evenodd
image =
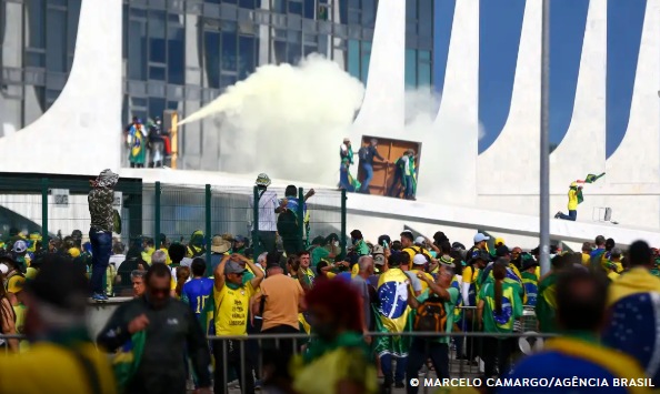
M 339 144 L 363 95 L 359 80 L 311 54 L 298 65 L 258 68 L 180 124 L 220 114 L 223 172 L 330 185 L 338 179 Z

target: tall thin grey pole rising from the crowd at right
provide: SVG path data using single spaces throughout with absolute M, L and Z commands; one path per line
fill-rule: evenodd
M 541 274 L 550 271 L 550 0 L 543 0 L 541 24 L 541 165 L 540 253 Z

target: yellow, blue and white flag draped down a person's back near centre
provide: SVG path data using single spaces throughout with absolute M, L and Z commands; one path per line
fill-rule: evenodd
M 374 307 L 376 331 L 401 333 L 410 331 L 410 309 L 408 307 L 408 276 L 400 269 L 390 269 L 378 281 L 380 305 Z M 377 336 L 376 352 L 379 355 L 392 354 L 406 357 L 410 339 L 401 336 Z

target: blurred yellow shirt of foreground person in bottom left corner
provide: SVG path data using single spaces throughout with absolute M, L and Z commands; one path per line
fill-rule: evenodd
M 97 371 L 100 392 L 116 394 L 114 374 L 108 356 L 92 343 L 82 345 L 80 352 Z M 76 355 L 53 343 L 38 342 L 27 353 L 0 356 L 0 393 L 89 394 L 92 392 L 89 382 L 87 371 Z

